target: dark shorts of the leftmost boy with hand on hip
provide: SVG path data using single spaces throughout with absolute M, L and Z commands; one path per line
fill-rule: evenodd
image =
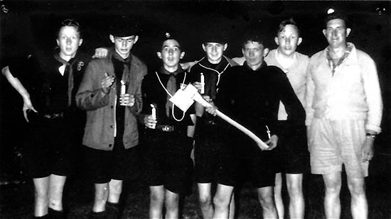
M 23 168 L 32 178 L 56 174 L 68 176 L 74 169 L 76 142 L 80 138 L 70 136 L 69 125 L 63 118 L 42 119 L 29 124 L 26 147 L 23 148 Z

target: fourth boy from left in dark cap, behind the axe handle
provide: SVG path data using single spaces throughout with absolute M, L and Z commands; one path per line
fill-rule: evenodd
M 208 101 L 215 101 L 220 84 L 220 77 L 226 70 L 237 65 L 236 62 L 225 57 L 223 52 L 227 50 L 227 38 L 220 33 L 205 33 L 203 50 L 205 57 L 199 60 L 190 69 L 191 82 L 197 87 Z M 201 77 L 202 83 L 201 84 Z M 225 138 L 227 123 L 215 118 L 209 113 L 204 113 L 203 106 L 195 103 L 195 115 L 197 116 L 195 128 L 195 180 L 198 183 L 198 199 L 200 201 L 203 218 L 213 217 L 213 205 L 211 186 L 215 181 L 215 173 L 221 150 L 228 142 Z M 233 218 L 235 201 L 230 204 L 230 218 Z

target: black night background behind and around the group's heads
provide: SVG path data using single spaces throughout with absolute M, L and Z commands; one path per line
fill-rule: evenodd
M 377 63 L 384 102 L 382 134 L 375 143 L 370 174 L 390 182 L 391 171 L 391 1 L 4 1 L 0 0 L 0 67 L 36 50 L 52 50 L 55 33 L 64 18 L 82 26 L 81 50 L 92 54 L 95 47 L 110 46 L 108 26 L 117 15 L 139 19 L 142 32 L 133 48 L 148 67 L 155 67 L 156 39 L 160 31 L 174 30 L 183 39 L 184 61 L 203 57 L 200 36 L 217 28 L 229 37 L 228 57 L 241 56 L 240 35 L 245 28 L 261 28 L 271 40 L 278 24 L 294 18 L 303 43 L 298 51 L 313 55 L 327 46 L 323 18 L 329 8 L 346 12 L 352 32 L 348 41 L 367 52 Z M 18 168 L 26 123 L 18 93 L 0 77 L 0 185 L 21 181 Z M 23 180 L 22 180 L 23 181 Z M 390 185 L 391 186 L 391 185 Z M 1 196 L 0 189 L 0 196 Z M 3 190 L 4 191 L 4 190 Z M 391 198 L 390 194 L 387 195 Z M 0 218 L 1 202 L 0 198 Z M 389 207 L 389 206 L 388 206 Z M 388 208 L 390 209 L 390 208 Z M 388 210 L 390 212 L 390 210 Z M 390 214 L 388 214 L 390 215 Z

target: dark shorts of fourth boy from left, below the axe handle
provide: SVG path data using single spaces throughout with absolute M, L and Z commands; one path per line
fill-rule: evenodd
M 195 181 L 211 183 L 216 179 L 218 157 L 224 154 L 227 134 L 223 124 L 214 121 L 197 120 L 195 130 Z

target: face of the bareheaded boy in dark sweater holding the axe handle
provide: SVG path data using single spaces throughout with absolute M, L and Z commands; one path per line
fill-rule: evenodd
M 242 48 L 242 53 L 246 58 L 247 65 L 255 70 L 261 66 L 264 57 L 269 52 L 269 49 L 264 48 L 258 42 L 248 41 Z

